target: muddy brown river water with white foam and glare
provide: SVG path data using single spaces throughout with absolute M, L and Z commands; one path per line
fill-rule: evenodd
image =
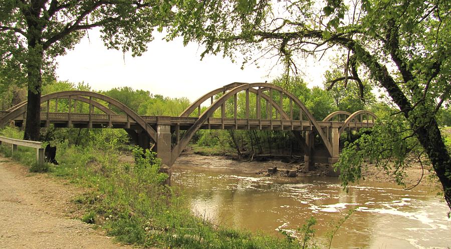
M 295 231 L 314 216 L 316 241 L 349 209 L 356 211 L 334 236 L 332 248 L 446 248 L 451 246 L 448 208 L 431 189 L 402 190 L 363 182 L 342 190 L 338 179 L 273 179 L 175 168 L 192 210 L 217 224 L 278 233 Z

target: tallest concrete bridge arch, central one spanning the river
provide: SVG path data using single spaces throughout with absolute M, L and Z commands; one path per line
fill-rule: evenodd
M 254 89 L 255 87 L 258 87 L 259 89 Z M 263 88 L 263 89 L 262 89 Z M 251 90 L 252 89 L 252 90 Z M 229 91 L 228 91 L 229 90 Z M 216 90 L 213 90 L 209 92 L 208 94 L 205 94 L 204 96 L 200 97 L 198 100 L 196 100 L 192 105 L 190 105 L 186 110 L 180 115 L 180 116 L 188 116 L 192 111 L 195 110 L 195 108 L 200 108 L 200 104 L 203 103 L 208 98 L 212 98 L 215 94 L 223 93 L 223 95 L 218 98 L 215 102 L 211 103 L 211 105 L 202 113 L 199 115 L 198 119 L 192 125 L 183 135 L 183 137 L 180 139 L 179 143 L 176 144 L 172 148 L 171 152 L 171 164 L 174 163 L 174 161 L 177 159 L 177 157 L 180 155 L 182 150 L 186 147 L 189 140 L 192 138 L 194 133 L 200 128 L 200 126 L 208 119 L 210 118 L 213 113 L 221 106 L 223 105 L 227 100 L 229 100 L 231 97 L 233 97 L 235 94 L 241 92 L 241 91 L 258 91 L 261 93 L 261 91 L 266 90 L 276 90 L 281 92 L 281 94 L 287 96 L 291 101 L 293 101 L 300 109 L 300 116 L 301 116 L 301 122 L 302 122 L 302 113 L 305 113 L 308 121 L 310 122 L 311 126 L 315 128 L 321 139 L 323 140 L 325 147 L 327 148 L 329 154 L 332 155 L 332 147 L 329 143 L 327 135 L 324 133 L 324 131 L 321 129 L 318 122 L 315 120 L 315 118 L 312 116 L 312 114 L 307 110 L 305 105 L 293 94 L 285 91 L 283 88 L 270 84 L 270 83 L 233 83 L 228 86 L 224 86 L 223 88 L 218 88 Z M 226 92 L 228 91 L 228 92 Z M 261 97 L 264 95 L 262 94 Z M 267 96 L 267 95 L 266 95 Z M 265 97 L 263 97 L 265 98 Z M 270 98 L 270 97 L 269 97 Z M 270 98 L 271 99 L 271 98 Z M 268 100 L 268 99 L 267 99 Z M 271 99 L 272 100 L 272 99 Z M 281 116 L 285 116 L 285 119 L 288 119 L 288 115 L 283 111 L 282 107 L 279 105 L 274 105 L 275 108 L 278 108 L 281 111 Z M 257 107 L 258 108 L 258 107 Z M 285 115 L 283 115 L 285 114 Z

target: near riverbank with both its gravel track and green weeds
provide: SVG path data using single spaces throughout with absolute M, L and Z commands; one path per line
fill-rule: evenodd
M 111 129 L 106 132 L 115 131 Z M 22 177 L 38 176 L 30 177 L 30 187 L 27 191 L 38 190 L 37 198 L 48 196 L 42 203 L 42 206 L 46 206 L 45 209 L 34 203 L 22 209 L 22 204 L 9 205 L 15 199 L 20 200 L 18 203 L 23 202 L 20 198 L 27 192 L 23 188 L 28 184 L 8 181 L 14 177 L 0 171 L 2 176 L 7 177 L 5 180 L 0 178 L 3 189 L 0 197 L 6 196 L 6 199 L 1 199 L 2 205 L 5 206 L 0 206 L 0 217 L 3 218 L 0 223 L 0 247 L 73 248 L 80 244 L 83 248 L 115 248 L 108 242 L 89 240 L 89 234 L 96 233 L 88 229 L 92 227 L 114 237 L 115 241 L 134 247 L 299 248 L 299 243 L 292 239 L 218 226 L 205 217 L 194 215 L 182 193 L 164 184 L 167 175 L 158 173 L 159 164 L 154 160 L 154 154 L 134 147 L 133 158 L 137 160 L 133 163 L 121 162 L 118 158 L 122 157 L 122 152 L 116 148 L 60 145 L 57 151 L 59 165 L 46 163 L 42 167 L 46 173 L 27 173 L 33 168 L 33 163 L 28 167 L 22 166 L 25 174 Z M 0 146 L 0 151 L 11 155 L 9 146 Z M 13 159 L 27 164 L 33 162 L 35 153 L 34 150 L 19 148 Z M 145 156 L 142 153 L 145 153 Z M 71 193 L 56 188 L 55 194 L 47 195 L 47 188 L 52 191 L 52 187 L 48 187 L 51 184 L 37 180 L 41 177 L 49 178 L 49 182 L 53 180 L 67 185 L 67 188 L 74 188 L 75 191 Z M 3 195 L 8 191 L 12 193 Z M 50 211 L 53 202 L 60 200 L 60 208 L 64 209 L 67 205 L 66 207 L 72 210 L 70 218 L 47 215 L 53 214 L 53 211 Z M 35 206 L 38 207 L 37 212 L 34 210 Z M 55 209 L 55 215 L 64 213 L 58 208 Z M 66 222 L 65 218 L 69 221 Z M 14 224 L 15 222 L 17 224 Z M 11 223 L 13 225 L 10 225 Z M 83 227 L 88 228 L 83 230 Z M 69 231 L 66 228 L 69 228 Z M 73 235 L 74 239 L 68 238 L 72 233 L 82 235 Z M 4 234 L 8 236 L 7 239 L 1 236 Z M 84 235 L 86 238 L 83 238 Z M 30 236 L 29 240 L 22 240 L 22 237 L 28 239 Z M 85 243 L 79 242 L 80 239 L 85 239 Z M 61 243 L 60 247 L 60 240 L 67 240 L 70 244 Z

